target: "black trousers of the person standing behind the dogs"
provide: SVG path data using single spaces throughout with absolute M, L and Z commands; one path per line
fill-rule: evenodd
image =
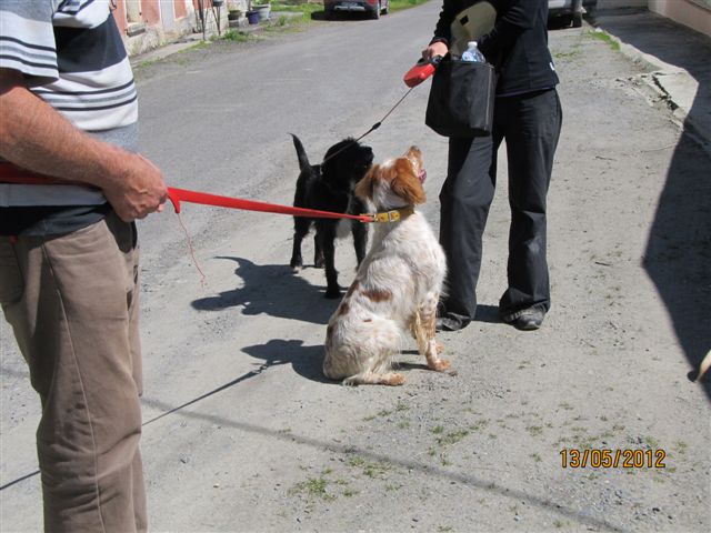
M 440 242 L 447 254 L 447 296 L 440 314 L 468 323 L 477 311 L 482 234 L 497 179 L 497 151 L 507 141 L 509 167 L 509 286 L 502 316 L 550 308 L 545 261 L 545 197 L 562 121 L 554 89 L 498 98 L 491 137 L 450 139 L 448 175 L 440 192 Z

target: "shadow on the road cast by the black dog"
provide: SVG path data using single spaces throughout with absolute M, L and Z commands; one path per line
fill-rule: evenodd
M 317 288 L 294 274 L 286 264 L 256 264 L 248 259 L 226 258 L 238 266 L 234 274 L 242 286 L 192 302 L 198 311 L 220 311 L 237 305 L 246 315 L 268 314 L 282 319 L 326 324 L 338 300 L 323 298 L 324 288 Z

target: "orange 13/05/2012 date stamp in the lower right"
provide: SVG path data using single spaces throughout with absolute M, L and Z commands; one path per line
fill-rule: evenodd
M 601 450 L 563 449 L 560 451 L 563 469 L 665 469 L 664 450 Z

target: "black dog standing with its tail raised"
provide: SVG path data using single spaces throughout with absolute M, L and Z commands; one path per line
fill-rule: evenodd
M 301 173 L 297 180 L 297 193 L 293 204 L 297 208 L 318 209 L 336 213 L 362 214 L 365 205 L 353 194 L 353 188 L 373 162 L 373 151 L 354 139 L 344 139 L 333 144 L 326 152 L 323 163 L 310 164 L 303 144 L 297 135 L 293 145 L 299 157 Z M 338 284 L 338 271 L 334 264 L 336 238 L 339 224 L 350 224 L 356 247 L 358 264 L 365 257 L 368 244 L 368 227 L 357 220 L 348 219 L 309 219 L 307 217 L 293 218 L 293 252 L 291 254 L 291 268 L 303 266 L 301 259 L 301 241 L 309 233 L 311 224 L 316 227 L 314 264 L 317 268 L 326 266 L 327 290 L 326 298 L 340 298 L 341 288 Z

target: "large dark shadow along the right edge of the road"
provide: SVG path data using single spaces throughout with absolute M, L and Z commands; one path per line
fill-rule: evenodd
M 665 63 L 684 69 L 699 88 L 674 147 L 667 182 L 650 228 L 643 266 L 671 316 L 689 361 L 688 378 L 711 350 L 711 179 L 709 157 L 694 141 L 692 123 L 709 113 L 711 39 L 662 17 L 600 17 L 608 33 Z M 644 313 L 644 310 L 640 310 Z M 711 383 L 704 383 L 711 398 Z

